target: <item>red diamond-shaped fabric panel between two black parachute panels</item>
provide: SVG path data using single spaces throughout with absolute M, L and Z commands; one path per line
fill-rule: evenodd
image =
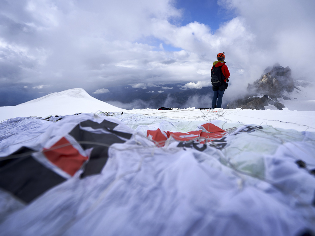
M 50 149 L 43 149 L 43 154 L 54 165 L 71 176 L 88 160 L 88 157 L 81 155 L 65 137 L 61 138 Z

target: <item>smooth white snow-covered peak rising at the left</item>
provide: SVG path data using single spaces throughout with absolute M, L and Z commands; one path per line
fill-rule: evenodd
M 0 107 L 0 121 L 26 116 L 72 115 L 97 111 L 117 112 L 124 109 L 112 106 L 90 96 L 82 88 L 73 88 L 60 93 L 51 93 L 16 106 Z

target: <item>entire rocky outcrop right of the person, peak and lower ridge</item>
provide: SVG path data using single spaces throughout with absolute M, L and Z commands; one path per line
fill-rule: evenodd
M 248 84 L 248 94 L 244 98 L 227 104 L 226 108 L 265 110 L 266 106 L 271 105 L 278 110 L 282 110 L 284 105 L 279 103 L 277 98 L 289 99 L 283 95 L 283 92 L 292 92 L 294 90 L 291 69 L 289 66 L 284 68 L 276 64 L 272 68 L 267 68 L 265 73 L 254 84 Z

